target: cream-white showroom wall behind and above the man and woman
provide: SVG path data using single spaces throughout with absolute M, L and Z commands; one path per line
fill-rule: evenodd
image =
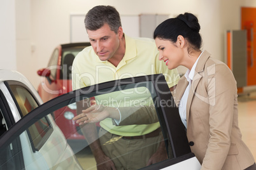
M 6 10 L 7 7 L 12 11 Z M 8 12 L 9 25 L 3 32 L 6 39 L 10 41 L 15 36 L 11 28 L 15 27 L 13 22 L 14 0 L 2 0 L 0 7 L 0 19 L 5 20 Z M 194 13 L 201 24 L 201 35 L 203 37 L 203 49 L 208 50 L 213 57 L 224 61 L 224 34 L 228 29 L 240 28 L 241 6 L 255 6 L 251 0 L 15 0 L 16 24 L 17 24 L 17 67 L 15 62 L 2 60 L 1 67 L 17 69 L 29 78 L 29 81 L 37 87 L 40 77 L 36 74 L 38 69 L 46 67 L 53 48 L 60 43 L 70 41 L 70 15 L 85 15 L 92 7 L 99 4 L 115 6 L 120 15 L 139 15 L 141 13 L 168 14 L 176 16 L 186 11 Z M 24 3 L 25 2 L 25 3 Z M 2 10 L 3 8 L 3 10 Z M 29 10 L 30 9 L 30 10 Z M 3 16 L 4 15 L 4 16 Z M 3 22 L 2 22 L 3 23 Z M 3 29 L 3 27 L 1 27 Z M 18 32 L 18 30 L 22 30 Z M 125 30 L 124 30 L 125 31 Z M 12 58 L 16 53 L 15 43 L 6 43 L 0 39 L 4 50 L 11 48 L 6 56 Z M 11 46 L 10 46 L 11 44 Z M 1 50 L 3 51 L 3 50 Z M 3 66 L 2 66 L 3 65 Z

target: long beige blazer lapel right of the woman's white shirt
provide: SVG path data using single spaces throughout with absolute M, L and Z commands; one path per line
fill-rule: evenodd
M 196 65 L 195 75 L 193 77 L 192 84 L 190 86 L 189 93 L 188 93 L 187 108 L 186 108 L 187 125 L 188 125 L 188 118 L 189 118 L 189 114 L 190 114 L 190 107 L 191 107 L 192 99 L 196 93 L 196 88 L 197 88 L 199 81 L 201 80 L 202 77 L 204 77 L 204 65 L 209 57 L 210 57 L 210 53 L 208 53 L 208 51 L 203 51 L 202 55 L 200 56 L 200 58 L 197 62 L 197 65 Z M 184 91 L 183 91 L 183 93 L 184 93 Z

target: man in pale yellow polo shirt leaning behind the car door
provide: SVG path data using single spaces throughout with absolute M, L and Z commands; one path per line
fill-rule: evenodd
M 85 28 L 92 46 L 83 49 L 73 62 L 72 82 L 74 90 L 101 82 L 113 81 L 115 79 L 150 74 L 166 75 L 166 81 L 170 90 L 174 90 L 180 79 L 178 71 L 168 70 L 167 67 L 163 65 L 164 62 L 159 62 L 159 52 L 153 39 L 131 38 L 125 35 L 122 30 L 119 13 L 115 8 L 112 6 L 96 6 L 92 8 L 85 16 Z M 78 102 L 77 107 L 78 114 L 81 114 L 82 110 L 85 109 L 82 102 Z M 83 125 L 83 117 L 81 115 L 78 115 L 73 120 Z M 165 147 L 163 146 L 164 142 L 159 142 L 160 144 L 155 146 L 157 147 L 155 149 L 157 152 L 152 153 L 150 159 L 146 160 L 146 163 L 136 162 L 136 160 L 135 162 L 124 160 L 124 162 L 131 162 L 129 167 L 124 167 L 124 163 L 122 163 L 121 160 L 118 160 L 118 158 L 113 159 L 111 152 L 108 152 L 109 149 L 105 148 L 107 147 L 106 145 L 104 145 L 103 151 L 103 145 L 101 145 L 102 143 L 99 140 L 104 136 L 98 140 L 98 136 L 92 133 L 92 131 L 96 133 L 96 128 L 91 127 L 93 124 L 87 124 L 85 126 L 83 126 L 82 131 L 90 144 L 98 169 L 138 169 L 167 159 L 166 154 L 162 154 L 166 153 Z M 118 127 L 115 131 L 111 131 L 111 126 L 113 126 L 113 124 L 105 120 L 101 122 L 102 131 L 108 134 L 129 136 L 131 131 L 141 131 L 136 135 L 129 136 L 131 137 L 129 140 L 132 140 L 134 136 L 136 136 L 136 138 L 140 136 L 161 138 L 159 135 L 152 135 L 159 129 L 159 124 L 136 126 L 136 129 L 134 129 L 134 127 L 130 129 L 121 128 L 122 130 L 120 129 L 120 131 Z M 143 133 L 143 129 L 146 130 L 146 134 Z M 151 132 L 148 132 L 149 130 Z M 88 133 L 89 131 L 90 133 Z M 120 139 L 118 142 L 122 142 L 122 140 L 127 139 Z M 111 144 L 111 147 L 115 148 L 115 143 Z M 121 148 L 125 147 L 127 146 L 124 144 Z M 137 156 L 144 157 L 144 155 Z

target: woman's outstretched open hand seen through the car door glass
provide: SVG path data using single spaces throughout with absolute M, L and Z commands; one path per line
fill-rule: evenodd
M 86 123 L 100 122 L 108 117 L 119 120 L 120 115 L 117 108 L 94 104 L 91 107 L 82 110 L 82 114 L 76 115 L 76 117 L 73 118 L 73 121 L 83 125 Z

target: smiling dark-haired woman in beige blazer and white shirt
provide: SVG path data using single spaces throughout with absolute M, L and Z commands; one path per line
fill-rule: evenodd
M 168 69 L 179 65 L 188 69 L 177 84 L 174 100 L 190 148 L 202 169 L 256 169 L 238 128 L 234 76 L 225 63 L 201 51 L 199 30 L 196 16 L 185 13 L 160 23 L 153 35 L 159 60 Z

